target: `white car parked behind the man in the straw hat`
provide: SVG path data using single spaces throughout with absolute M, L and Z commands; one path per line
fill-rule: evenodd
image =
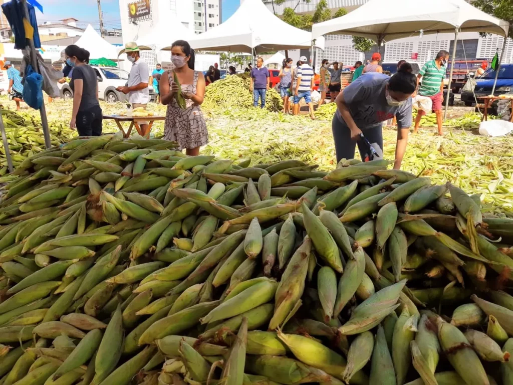
M 98 99 L 105 100 L 109 103 L 125 102 L 127 95 L 117 91 L 116 88 L 125 86 L 128 81 L 128 72 L 115 67 L 91 66 L 96 72 L 98 79 Z M 59 83 L 61 90 L 61 98 L 64 100 L 73 99 L 73 91 L 68 83 Z M 155 91 L 148 85 L 150 100 L 155 100 Z

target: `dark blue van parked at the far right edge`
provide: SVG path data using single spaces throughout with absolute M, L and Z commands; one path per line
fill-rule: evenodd
M 479 78 L 476 79 L 476 98 L 478 102 L 482 102 L 480 98 L 491 94 L 491 89 L 494 87 L 496 72 L 491 68 L 487 69 Z M 495 87 L 495 96 L 503 94 L 513 94 L 513 64 L 502 64 L 499 68 L 499 77 L 497 78 L 497 85 Z M 474 95 L 472 92 L 462 91 L 461 101 L 466 106 L 471 106 L 475 103 Z

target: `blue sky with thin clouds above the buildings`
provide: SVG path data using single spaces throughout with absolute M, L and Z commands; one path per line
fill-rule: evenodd
M 101 0 L 103 20 L 105 28 L 121 28 L 119 0 Z M 240 0 L 222 0 L 223 22 L 239 8 Z M 77 26 L 85 28 L 91 24 L 98 29 L 98 8 L 96 0 L 40 0 L 45 13 L 37 12 L 37 22 L 57 22 L 66 17 L 74 17 L 79 20 Z M 77 5 L 80 4 L 80 8 Z

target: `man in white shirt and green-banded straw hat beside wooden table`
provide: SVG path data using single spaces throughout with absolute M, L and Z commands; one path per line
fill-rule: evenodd
M 141 59 L 137 43 L 127 43 L 124 52 L 127 54 L 128 61 L 132 63 L 132 68 L 128 75 L 128 85 L 126 87 L 117 87 L 116 89 L 124 94 L 128 94 L 128 102 L 132 105 L 132 108 L 143 107 L 146 109 L 150 101 L 148 64 Z M 141 130 L 146 133 L 148 122 L 140 122 L 139 125 Z

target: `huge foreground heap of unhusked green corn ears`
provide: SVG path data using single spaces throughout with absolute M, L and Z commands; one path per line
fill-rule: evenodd
M 77 138 L 0 200 L 0 384 L 513 384 L 513 220 L 388 161 Z

